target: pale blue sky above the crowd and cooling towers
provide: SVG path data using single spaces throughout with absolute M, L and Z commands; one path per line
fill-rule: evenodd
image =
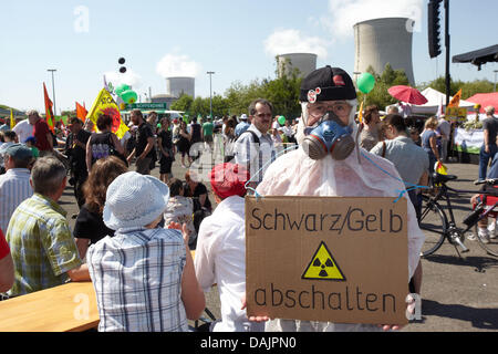
M 196 95 L 222 94 L 231 83 L 274 77 L 274 55 L 310 51 L 318 65 L 354 70 L 352 25 L 378 17 L 419 19 L 413 62 L 417 83 L 445 72 L 444 53 L 428 58 L 427 0 L 46 0 L 1 1 L 0 103 L 44 112 L 42 84 L 56 69 L 58 111 L 91 106 L 103 75 L 129 81 L 142 95 L 166 93 L 164 76 L 195 75 Z M 452 56 L 497 44 L 496 0 L 450 0 Z M 128 74 L 117 75 L 118 58 Z M 455 80 L 495 80 L 498 65 L 479 72 L 452 64 Z

